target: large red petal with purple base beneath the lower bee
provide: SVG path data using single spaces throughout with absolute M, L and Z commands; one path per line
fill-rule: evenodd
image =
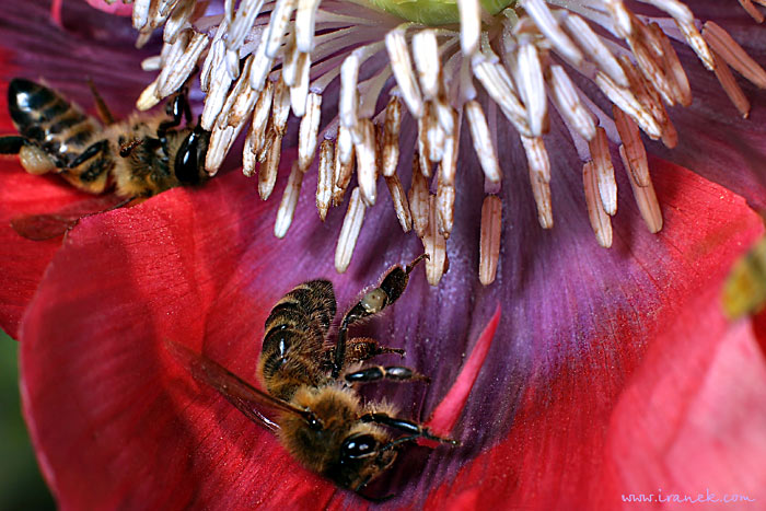
M 625 466 L 615 467 L 611 453 L 625 445 L 634 452 L 649 448 L 625 441 L 625 426 L 614 429 L 611 439 L 615 421 L 625 414 L 623 399 L 659 382 L 643 376 L 650 363 L 668 364 L 657 365 L 654 376 L 672 372 L 704 378 L 698 364 L 677 351 L 666 360 L 661 355 L 677 342 L 676 332 L 690 339 L 678 349 L 689 348 L 695 336 L 706 338 L 699 349 L 717 346 L 726 327 L 718 316 L 700 323 L 701 332 L 690 333 L 694 323 L 678 317 L 711 314 L 709 307 L 693 309 L 694 297 L 709 305 L 706 300 L 715 294 L 718 304 L 728 266 L 763 231 L 739 197 L 678 167 L 657 167 L 666 230 L 649 236 L 640 224 L 623 227 L 632 245 L 618 239 L 611 252 L 594 252 L 603 258 L 600 269 L 610 279 L 603 280 L 608 288 L 594 284 L 599 281 L 585 270 L 570 272 L 568 281 L 557 279 L 564 292 L 549 292 L 547 302 L 503 302 L 498 339 L 457 426 L 463 448 L 408 450 L 391 474 L 390 486 L 398 488 L 395 502 L 425 503 L 421 499 L 431 490 L 433 507 L 607 506 L 619 491 L 653 491 L 618 485 L 629 474 Z M 25 317 L 21 348 L 24 410 L 46 477 L 63 508 L 316 507 L 353 499 L 301 469 L 272 435 L 214 391 L 196 385 L 162 346 L 163 339 L 183 341 L 252 381 L 270 304 L 294 283 L 328 275 L 330 231 L 326 225 L 318 232 L 306 229 L 316 225 L 306 220 L 314 212 L 301 213 L 299 205 L 295 230 L 289 234 L 291 249 L 285 251 L 271 237 L 276 205 L 258 202 L 252 187 L 241 183 L 239 175 L 224 175 L 199 191 L 171 190 L 130 210 L 89 218 L 57 254 Z M 313 202 L 313 197 L 304 199 Z M 623 205 L 624 214 L 632 211 L 626 220 L 637 222 L 635 207 L 627 200 Z M 380 251 L 375 240 L 381 232 L 360 239 L 359 260 L 375 260 L 365 265 L 373 267 L 373 275 L 365 269 L 364 275 L 334 279 L 352 282 L 338 287 L 339 303 L 348 303 L 358 282 L 373 282 L 390 265 L 379 260 L 385 257 L 370 256 Z M 577 257 L 590 256 L 589 248 L 579 247 L 592 242 L 590 237 L 572 242 L 557 245 L 568 255 L 537 253 L 550 270 L 527 289 L 549 289 L 547 279 Z M 460 283 L 475 260 L 468 263 L 453 258 L 445 284 L 434 291 L 414 276 L 414 289 L 381 322 L 391 329 L 380 338 L 404 338 L 408 363 L 415 356 L 420 362 L 413 365 L 433 376 L 426 399 L 422 387 L 396 386 L 390 394 L 395 403 L 422 403 L 428 410 L 429 402 L 436 403 L 452 385 L 460 365 L 454 362 L 462 358 L 465 339 L 475 336 L 466 333 L 463 339 L 464 334 L 451 334 L 462 330 L 442 330 L 437 323 L 446 317 L 433 311 L 440 302 L 446 307 L 461 302 L 454 297 L 471 293 Z M 513 275 L 514 268 L 503 271 Z M 569 292 L 569 286 L 582 292 Z M 486 324 L 480 303 L 495 298 L 477 293 L 468 315 L 478 317 L 471 325 L 478 329 Z M 417 322 L 414 336 L 408 334 L 409 317 Z M 439 345 L 426 341 L 431 335 Z M 755 369 L 748 386 L 759 378 Z M 677 398 L 682 406 L 686 394 L 670 392 L 675 382 L 660 382 L 658 388 L 669 403 Z M 684 410 L 689 408 L 680 408 L 682 418 L 692 417 Z M 627 419 L 620 418 L 619 425 L 622 420 Z M 641 431 L 632 430 L 628 438 L 646 442 L 650 431 Z M 720 434 L 728 439 L 736 432 L 724 429 Z M 681 433 L 689 434 L 685 442 L 699 440 L 700 448 L 712 442 L 688 429 Z M 746 443 L 764 454 L 757 444 Z M 733 445 L 729 455 L 738 455 L 743 445 Z M 418 478 L 418 473 L 428 476 Z M 599 486 L 603 477 L 608 486 Z M 443 486 L 434 488 L 439 483 Z

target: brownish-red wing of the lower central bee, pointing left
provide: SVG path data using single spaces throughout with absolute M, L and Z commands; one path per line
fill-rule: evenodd
M 192 373 L 195 380 L 217 390 L 253 422 L 275 432 L 280 429 L 278 423 L 264 414 L 266 408 L 305 417 L 305 410 L 255 388 L 218 362 L 178 342 L 167 341 L 166 345 L 175 359 Z

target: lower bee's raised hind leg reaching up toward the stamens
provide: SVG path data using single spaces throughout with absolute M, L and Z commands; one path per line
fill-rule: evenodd
M 413 259 L 410 264 L 404 268 L 399 265 L 391 268 L 381 284 L 368 292 L 362 299 L 353 305 L 344 316 L 338 328 L 338 340 L 335 345 L 335 361 L 333 362 L 333 378 L 337 379 L 343 371 L 344 362 L 346 361 L 346 337 L 348 336 L 348 327 L 353 323 L 378 314 L 386 306 L 394 303 L 407 288 L 409 274 L 423 259 L 428 258 L 428 254 L 420 254 Z

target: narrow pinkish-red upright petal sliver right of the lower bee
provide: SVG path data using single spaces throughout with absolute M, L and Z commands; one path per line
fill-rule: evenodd
M 455 383 L 452 384 L 450 392 L 446 393 L 444 398 L 433 410 L 433 414 L 431 414 L 428 422 L 426 422 L 434 433 L 448 435 L 455 426 L 455 422 L 457 422 L 457 418 L 463 411 L 471 390 L 474 387 L 478 373 L 484 365 L 484 360 L 487 358 L 489 347 L 492 345 L 495 332 L 500 323 L 500 304 L 498 303 L 492 318 L 479 335 L 476 346 L 474 346 L 473 351 L 471 351 L 468 356 L 468 360 L 465 361 L 457 379 L 455 379 Z

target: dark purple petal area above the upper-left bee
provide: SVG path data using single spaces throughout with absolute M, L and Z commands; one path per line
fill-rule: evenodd
M 151 81 L 151 73 L 142 71 L 140 62 L 159 48 L 151 45 L 136 50 L 130 20 L 97 11 L 81 0 L 66 0 L 63 28 L 59 28 L 50 22 L 46 0 L 9 0 L 2 7 L 2 61 L 11 66 L 2 71 L 3 82 L 15 76 L 42 79 L 94 112 L 86 84 L 92 78 L 115 115 L 124 117 L 135 109 L 138 94 Z

